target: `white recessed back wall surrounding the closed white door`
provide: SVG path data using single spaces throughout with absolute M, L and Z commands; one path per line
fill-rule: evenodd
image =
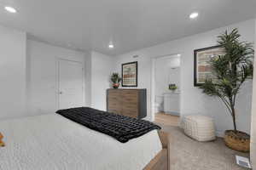
M 84 53 L 71 49 L 55 47 L 44 42 L 27 41 L 27 99 L 30 115 L 55 113 L 58 109 L 56 66 L 59 58 L 84 63 L 85 57 Z M 86 88 L 88 89 L 87 84 Z M 86 94 L 85 92 L 85 96 Z

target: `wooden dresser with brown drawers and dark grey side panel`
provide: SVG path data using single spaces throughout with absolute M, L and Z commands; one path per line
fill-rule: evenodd
M 107 111 L 137 118 L 147 116 L 147 90 L 128 88 L 108 89 Z

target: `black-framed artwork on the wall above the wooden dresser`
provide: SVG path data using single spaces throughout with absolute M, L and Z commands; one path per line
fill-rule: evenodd
M 137 87 L 137 61 L 122 64 L 122 86 Z

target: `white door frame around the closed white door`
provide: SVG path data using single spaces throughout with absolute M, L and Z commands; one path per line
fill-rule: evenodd
M 85 105 L 85 80 L 84 80 L 84 62 L 83 61 L 78 61 L 78 60 L 73 60 L 73 59 L 63 59 L 61 57 L 56 58 L 56 89 L 55 89 L 55 95 L 56 95 L 56 108 L 57 110 L 60 109 L 60 61 L 70 61 L 70 62 L 75 62 L 79 63 L 82 65 L 82 94 L 83 94 L 83 104 Z

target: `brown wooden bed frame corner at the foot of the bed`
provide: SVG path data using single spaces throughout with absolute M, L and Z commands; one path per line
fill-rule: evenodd
M 151 160 L 143 170 L 170 170 L 170 135 L 158 132 L 163 149 Z

